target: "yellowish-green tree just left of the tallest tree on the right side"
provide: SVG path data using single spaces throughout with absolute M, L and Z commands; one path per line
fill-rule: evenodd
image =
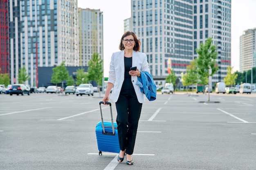
M 186 67 L 186 74 L 183 76 L 183 86 L 189 86 L 192 84 L 192 93 L 194 90 L 194 84 L 198 82 L 198 73 L 196 61 L 190 62 L 190 65 Z

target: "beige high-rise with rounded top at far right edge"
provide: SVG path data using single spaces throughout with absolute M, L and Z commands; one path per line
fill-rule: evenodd
M 256 66 L 256 28 L 247 29 L 240 36 L 239 46 L 239 70 L 252 70 Z M 255 56 L 255 57 L 254 57 Z

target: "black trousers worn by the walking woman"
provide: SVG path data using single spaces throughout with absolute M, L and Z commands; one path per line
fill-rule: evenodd
M 138 102 L 133 88 L 121 90 L 116 108 L 120 149 L 132 155 L 142 108 L 142 103 Z

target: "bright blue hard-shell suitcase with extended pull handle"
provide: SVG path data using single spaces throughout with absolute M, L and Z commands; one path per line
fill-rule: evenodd
M 117 123 L 114 123 L 112 116 L 112 107 L 110 102 L 106 102 L 110 106 L 110 115 L 111 122 L 103 121 L 101 104 L 99 102 L 100 111 L 101 111 L 101 121 L 96 125 L 96 138 L 99 149 L 99 155 L 102 155 L 102 152 L 120 152 L 118 133 L 117 133 Z

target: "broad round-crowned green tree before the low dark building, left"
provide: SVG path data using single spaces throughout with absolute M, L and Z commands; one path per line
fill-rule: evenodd
M 51 82 L 54 84 L 58 84 L 62 82 L 62 88 L 63 88 L 63 82 L 64 80 L 68 79 L 68 71 L 67 68 L 64 65 L 64 62 L 61 63 L 61 65 L 56 66 L 55 68 L 52 68 L 52 80 Z

